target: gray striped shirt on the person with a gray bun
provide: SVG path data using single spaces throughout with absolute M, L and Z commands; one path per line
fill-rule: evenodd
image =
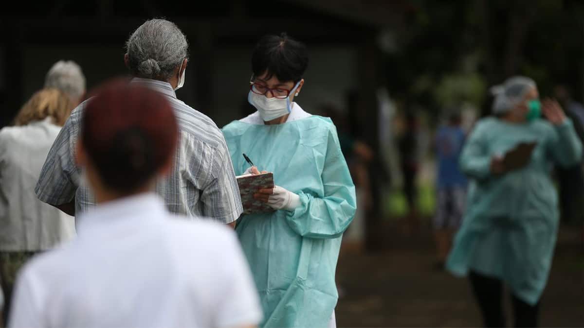
M 239 188 L 227 144 L 217 125 L 199 111 L 176 99 L 167 82 L 134 78 L 132 83 L 162 93 L 175 110 L 179 144 L 171 175 L 157 183 L 156 191 L 169 211 L 189 217 L 209 217 L 231 223 L 242 213 Z M 36 194 L 51 205 L 75 197 L 75 214 L 95 205 L 83 172 L 75 164 L 75 144 L 86 103 L 79 104 L 65 123 L 41 170 Z

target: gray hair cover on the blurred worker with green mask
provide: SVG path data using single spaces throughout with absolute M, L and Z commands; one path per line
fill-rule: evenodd
M 530 89 L 537 88 L 533 79 L 525 76 L 514 76 L 509 78 L 502 85 L 496 85 L 491 88 L 491 93 L 495 96 L 493 101 L 493 114 L 503 115 L 513 109 L 517 103 L 523 100 L 523 97 Z

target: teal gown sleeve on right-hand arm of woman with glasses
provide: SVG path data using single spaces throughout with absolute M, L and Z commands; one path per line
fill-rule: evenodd
M 288 211 L 286 219 L 290 228 L 303 237 L 337 238 L 353 221 L 357 205 L 353 180 L 334 127 L 328 132 L 321 179 L 324 196 L 300 191 L 298 196 L 302 204 Z

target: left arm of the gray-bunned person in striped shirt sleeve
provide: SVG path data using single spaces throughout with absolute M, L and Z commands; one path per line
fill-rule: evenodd
M 69 215 L 75 214 L 75 193 L 79 174 L 75 163 L 75 144 L 79 120 L 85 103 L 80 104 L 65 122 L 53 142 L 34 189 L 43 203 L 53 205 Z

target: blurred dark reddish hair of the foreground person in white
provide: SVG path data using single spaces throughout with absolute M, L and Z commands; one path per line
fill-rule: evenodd
M 176 151 L 178 125 L 164 96 L 111 82 L 84 110 L 81 142 L 103 186 L 130 194 L 154 179 Z

